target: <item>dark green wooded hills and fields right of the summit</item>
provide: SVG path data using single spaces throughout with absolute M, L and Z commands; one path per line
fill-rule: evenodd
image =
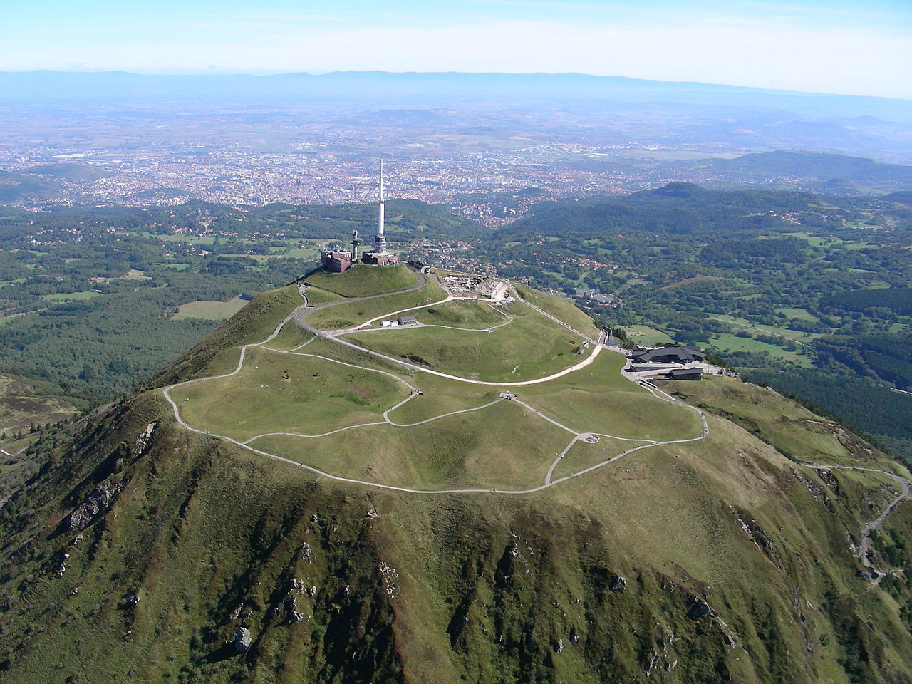
M 482 250 L 633 343 L 708 347 L 912 457 L 912 396 L 892 391 L 909 383 L 905 204 L 672 183 L 542 204 Z

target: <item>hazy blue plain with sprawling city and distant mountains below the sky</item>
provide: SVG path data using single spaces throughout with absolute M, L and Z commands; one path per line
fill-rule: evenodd
M 393 196 L 494 226 L 668 181 L 886 193 L 912 162 L 903 100 L 573 74 L 6 73 L 0 94 L 0 197 L 36 209 L 367 202 L 384 157 Z M 778 150 L 814 155 L 750 156 Z

